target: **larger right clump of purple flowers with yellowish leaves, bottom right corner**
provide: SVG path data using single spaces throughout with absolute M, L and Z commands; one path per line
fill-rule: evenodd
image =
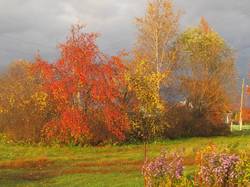
M 235 186 L 243 184 L 246 175 L 246 161 L 230 153 L 217 153 L 215 146 L 209 146 L 198 154 L 198 185 Z

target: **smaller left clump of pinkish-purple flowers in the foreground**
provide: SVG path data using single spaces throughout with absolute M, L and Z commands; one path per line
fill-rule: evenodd
M 153 187 L 177 184 L 183 175 L 182 161 L 183 159 L 177 154 L 167 157 L 166 153 L 162 153 L 156 159 L 145 162 L 142 170 L 145 185 Z

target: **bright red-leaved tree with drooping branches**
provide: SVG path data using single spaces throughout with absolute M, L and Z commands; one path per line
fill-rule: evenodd
M 122 93 L 125 66 L 120 56 L 100 52 L 96 34 L 81 29 L 72 27 L 55 63 L 36 58 L 35 72 L 57 105 L 44 133 L 65 143 L 122 141 L 129 129 Z

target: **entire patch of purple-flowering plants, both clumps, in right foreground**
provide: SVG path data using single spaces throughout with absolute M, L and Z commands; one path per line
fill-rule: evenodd
M 198 169 L 183 175 L 183 159 L 178 155 L 162 153 L 142 168 L 147 187 L 233 187 L 250 186 L 250 159 L 247 154 L 218 152 L 214 145 L 198 152 Z

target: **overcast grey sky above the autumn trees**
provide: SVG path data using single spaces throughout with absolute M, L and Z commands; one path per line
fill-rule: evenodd
M 249 0 L 173 0 L 184 14 L 181 28 L 195 26 L 204 16 L 237 51 L 241 75 L 250 62 Z M 129 51 L 147 0 L 0 0 L 0 66 L 14 59 L 32 59 L 36 51 L 56 59 L 56 46 L 70 25 L 82 22 L 88 31 L 101 33 L 99 46 L 114 54 Z

